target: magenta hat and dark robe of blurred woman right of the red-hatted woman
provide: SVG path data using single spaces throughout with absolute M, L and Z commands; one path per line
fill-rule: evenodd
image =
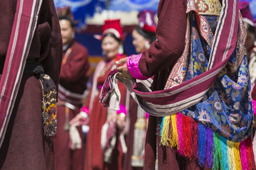
M 142 28 L 145 34 L 156 33 L 154 16 L 154 11 L 144 10 L 139 12 L 139 27 Z M 150 42 L 148 42 L 148 44 L 149 43 Z M 130 98 L 129 103 L 127 103 L 127 106 L 129 106 L 127 111 L 127 118 L 129 118 L 129 131 L 127 134 L 128 150 L 125 156 L 124 169 L 143 169 L 146 128 L 149 115 L 148 113 L 145 113 L 145 111 L 136 103 L 136 101 L 134 101 L 132 96 L 127 96 Z

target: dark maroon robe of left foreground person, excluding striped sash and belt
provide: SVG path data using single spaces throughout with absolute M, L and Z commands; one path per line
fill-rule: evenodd
M 17 1 L 0 1 L 0 67 L 4 66 Z M 52 0 L 44 0 L 27 60 L 41 62 L 58 86 L 62 40 Z M 55 169 L 51 137 L 43 136 L 43 91 L 33 74 L 23 74 L 3 145 L 0 169 Z

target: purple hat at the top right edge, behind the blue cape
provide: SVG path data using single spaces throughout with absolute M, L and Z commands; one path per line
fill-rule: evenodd
M 243 21 L 246 23 L 249 23 L 251 26 L 255 26 L 255 20 L 252 16 L 252 13 L 250 11 L 249 7 L 249 1 L 240 1 L 239 2 L 239 9 L 242 13 Z

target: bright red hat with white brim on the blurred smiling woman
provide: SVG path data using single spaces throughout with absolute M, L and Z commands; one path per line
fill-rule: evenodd
M 102 37 L 107 33 L 113 33 L 117 38 L 121 40 L 124 39 L 122 26 L 120 24 L 120 19 L 105 20 L 105 24 L 102 30 L 102 35 L 94 35 L 94 37 L 97 38 L 98 40 L 102 40 Z

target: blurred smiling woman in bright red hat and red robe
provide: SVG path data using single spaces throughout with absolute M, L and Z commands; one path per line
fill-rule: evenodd
M 87 103 L 70 124 L 87 122 L 89 132 L 85 148 L 85 170 L 123 169 L 124 153 L 127 147 L 124 139 L 125 128 L 125 94 L 124 84 L 119 83 L 122 93 L 119 111 L 113 111 L 99 102 L 100 90 L 108 72 L 117 67 L 115 62 L 123 57 L 122 41 L 124 34 L 119 19 L 106 20 L 102 35 L 95 35 L 102 41 L 102 51 L 105 60 L 97 64 L 92 79 L 92 90 Z

